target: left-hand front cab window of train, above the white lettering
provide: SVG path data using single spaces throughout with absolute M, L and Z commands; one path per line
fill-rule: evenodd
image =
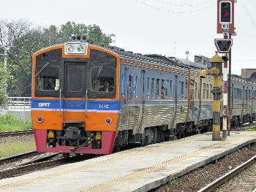
M 59 91 L 59 66 L 38 66 L 36 78 L 38 91 Z

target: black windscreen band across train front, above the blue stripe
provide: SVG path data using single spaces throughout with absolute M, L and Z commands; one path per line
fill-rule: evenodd
M 62 58 L 61 49 L 36 58 L 35 96 L 113 99 L 117 58 L 91 50 L 89 58 Z

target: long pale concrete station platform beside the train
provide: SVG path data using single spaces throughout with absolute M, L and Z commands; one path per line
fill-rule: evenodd
M 0 180 L 0 191 L 149 191 L 253 142 L 256 132 L 198 134 Z

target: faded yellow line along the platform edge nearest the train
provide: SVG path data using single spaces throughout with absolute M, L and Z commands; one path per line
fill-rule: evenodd
M 165 142 L 165 143 L 160 144 L 159 146 L 154 146 L 154 147 L 151 147 L 151 148 L 145 147 L 142 150 L 136 150 L 136 151 L 133 151 L 132 153 L 125 153 L 124 155 L 109 158 L 109 159 L 106 159 L 105 161 L 94 162 L 94 163 L 91 163 L 91 164 L 85 164 L 83 166 L 78 166 L 78 167 L 72 168 L 72 169 L 63 170 L 63 169 L 59 168 L 60 172 L 54 172 L 52 174 L 47 174 L 47 175 L 41 176 L 41 177 L 35 177 L 35 178 L 31 178 L 31 179 L 26 179 L 26 180 L 20 180 L 20 181 L 15 182 L 15 183 L 1 185 L 0 186 L 0 191 L 10 189 L 10 188 L 17 188 L 17 187 L 20 187 L 20 186 L 23 186 L 23 185 L 36 183 L 36 182 L 39 182 L 39 181 L 42 181 L 42 180 L 49 180 L 53 177 L 58 177 L 58 176 L 62 176 L 64 174 L 70 174 L 70 173 L 73 173 L 73 172 L 78 172 L 80 170 L 86 170 L 86 169 L 89 169 L 89 168 L 100 166 L 102 164 L 113 163 L 115 161 L 121 161 L 121 160 L 123 160 L 125 158 L 129 158 L 131 156 L 143 155 L 143 154 L 146 154 L 146 153 L 153 152 L 155 150 L 162 150 L 163 148 L 170 147 L 172 145 L 180 145 L 181 143 L 186 143 L 186 142 L 189 142 L 191 140 L 200 139 L 201 137 L 199 137 L 199 136 L 202 136 L 202 135 L 198 135 L 198 136 L 196 136 L 196 138 L 191 137 L 191 138 L 182 139 L 182 140 Z M 199 138 L 197 138 L 197 137 L 199 137 Z

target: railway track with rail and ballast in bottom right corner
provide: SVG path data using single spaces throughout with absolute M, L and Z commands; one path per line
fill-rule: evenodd
M 199 192 L 256 191 L 256 155 Z

